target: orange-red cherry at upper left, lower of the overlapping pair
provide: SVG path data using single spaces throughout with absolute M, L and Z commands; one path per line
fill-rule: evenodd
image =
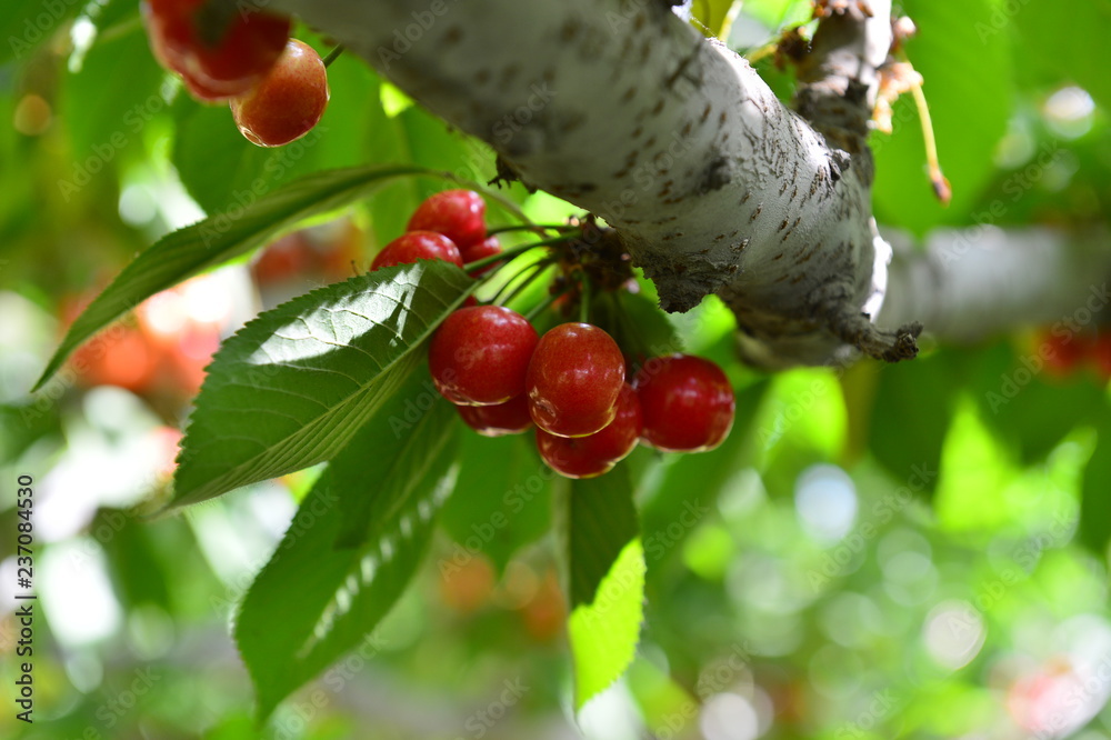
M 328 97 L 324 62 L 312 47 L 290 39 L 270 73 L 231 101 L 231 117 L 251 143 L 281 147 L 312 130 Z

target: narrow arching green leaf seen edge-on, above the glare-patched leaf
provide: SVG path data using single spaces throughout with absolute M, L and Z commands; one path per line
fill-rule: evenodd
M 419 173 L 420 167 L 360 167 L 316 172 L 191 227 L 167 234 L 143 251 L 78 317 L 33 390 L 97 330 L 154 293 L 268 243 L 299 221 L 363 198 L 384 181 Z

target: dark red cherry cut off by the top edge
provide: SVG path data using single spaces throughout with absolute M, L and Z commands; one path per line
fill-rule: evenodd
M 257 84 L 282 53 L 292 22 L 268 12 L 210 12 L 207 0 L 148 0 L 154 58 L 200 100 L 226 100 Z

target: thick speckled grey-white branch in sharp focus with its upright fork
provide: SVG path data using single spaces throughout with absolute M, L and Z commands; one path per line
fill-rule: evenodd
M 230 0 L 229 0 L 230 2 Z M 888 243 L 865 144 L 890 0 L 825 0 L 792 111 L 748 62 L 663 0 L 273 0 L 512 176 L 604 218 L 662 307 L 718 293 L 769 368 L 913 357 L 908 311 L 880 330 Z M 919 281 L 921 282 L 921 281 Z M 908 290 L 918 282 L 904 281 Z M 920 307 L 914 300 L 902 306 Z M 930 311 L 923 309 L 924 316 Z

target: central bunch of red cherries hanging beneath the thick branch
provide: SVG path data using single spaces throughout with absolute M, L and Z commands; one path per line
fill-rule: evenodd
M 418 259 L 464 267 L 498 254 L 484 216 L 473 191 L 432 196 L 371 269 Z M 568 478 L 608 472 L 638 442 L 673 452 L 710 450 L 733 423 L 733 391 L 713 362 L 671 354 L 648 359 L 630 373 L 603 329 L 568 322 L 541 337 L 504 306 L 472 301 L 449 316 L 432 336 L 429 370 L 437 390 L 480 434 L 536 427 L 541 458 Z

